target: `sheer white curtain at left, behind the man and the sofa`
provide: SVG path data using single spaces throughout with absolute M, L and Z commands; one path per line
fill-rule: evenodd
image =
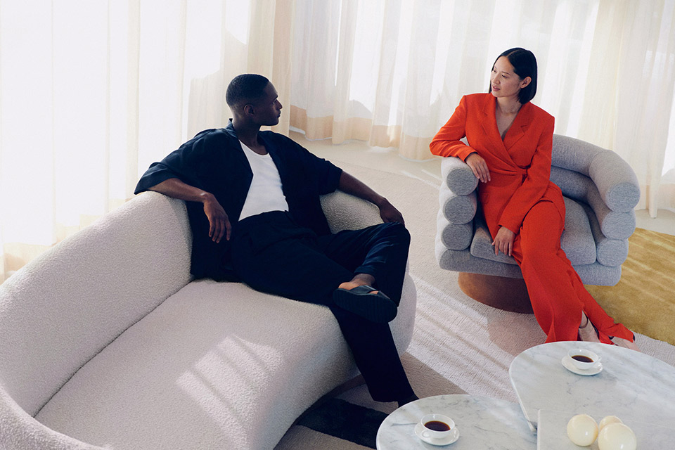
M 292 17 L 292 1 L 0 0 L 0 281 L 221 127 L 233 76 L 288 103 Z

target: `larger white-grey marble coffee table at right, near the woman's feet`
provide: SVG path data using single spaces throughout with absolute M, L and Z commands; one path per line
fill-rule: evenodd
M 572 348 L 596 352 L 603 371 L 591 376 L 567 371 L 561 361 Z M 647 354 L 596 342 L 551 342 L 516 356 L 508 372 L 533 430 L 540 410 L 567 413 L 568 420 L 586 413 L 664 428 L 675 424 L 675 367 Z

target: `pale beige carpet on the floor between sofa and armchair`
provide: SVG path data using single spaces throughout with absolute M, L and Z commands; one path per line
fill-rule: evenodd
M 408 176 L 338 165 L 385 195 L 404 214 L 411 231 L 410 272 L 418 309 L 413 340 L 402 360 L 418 395 L 467 393 L 517 401 L 508 366 L 520 352 L 543 343 L 545 335 L 532 314 L 475 302 L 459 289 L 456 273 L 439 269 L 434 254 L 438 189 Z M 671 323 L 672 316 L 662 321 Z M 643 352 L 675 366 L 675 347 L 643 335 L 637 342 Z M 340 398 L 386 413 L 396 408 L 372 401 L 363 386 Z M 296 425 L 276 450 L 365 448 Z

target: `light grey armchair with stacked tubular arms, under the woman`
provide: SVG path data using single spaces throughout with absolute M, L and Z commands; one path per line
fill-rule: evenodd
M 628 238 L 635 231 L 634 207 L 640 199 L 633 169 L 612 150 L 558 134 L 553 135 L 551 166 L 551 181 L 560 186 L 565 200 L 563 250 L 584 284 L 615 285 L 628 257 Z M 522 283 L 515 259 L 502 253 L 494 255 L 477 205 L 478 180 L 471 169 L 459 158 L 444 158 L 441 174 L 436 237 L 439 266 L 464 276 L 493 277 L 473 276 L 474 285 L 494 285 L 494 277 L 521 278 Z M 462 283 L 460 279 L 461 287 L 476 298 L 467 292 L 466 280 Z M 503 287 L 496 286 L 496 291 L 502 292 L 491 295 L 503 297 Z M 524 289 L 524 283 L 520 288 Z

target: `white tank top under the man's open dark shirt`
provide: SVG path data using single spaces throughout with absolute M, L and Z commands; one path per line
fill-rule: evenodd
M 272 157 L 269 153 L 259 155 L 239 142 L 253 171 L 253 180 L 239 220 L 262 212 L 288 211 L 288 203 L 281 189 L 281 177 Z

